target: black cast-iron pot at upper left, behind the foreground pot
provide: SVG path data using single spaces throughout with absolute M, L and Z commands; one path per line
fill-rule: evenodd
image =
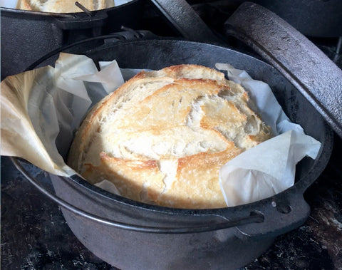
M 98 11 L 54 14 L 1 7 L 1 80 L 53 49 L 84 38 L 137 28 L 145 0 Z

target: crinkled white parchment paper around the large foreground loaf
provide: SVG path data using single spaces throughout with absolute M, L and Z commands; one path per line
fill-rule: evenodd
M 115 60 L 100 63 L 100 68 L 86 56 L 61 53 L 55 68 L 37 68 L 2 81 L 1 155 L 22 157 L 54 175 L 74 175 L 63 157 L 81 120 L 92 105 L 138 72 L 120 70 Z M 305 156 L 315 159 L 321 143 L 289 121 L 269 85 L 229 64 L 217 63 L 216 68 L 242 84 L 277 135 L 222 167 L 219 183 L 227 206 L 255 202 L 291 187 L 296 163 Z M 106 180 L 97 185 L 117 192 Z

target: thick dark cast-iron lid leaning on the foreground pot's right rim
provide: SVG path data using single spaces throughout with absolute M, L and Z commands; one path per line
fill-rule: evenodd
M 342 71 L 314 43 L 251 2 L 240 5 L 224 29 L 269 61 L 342 137 Z

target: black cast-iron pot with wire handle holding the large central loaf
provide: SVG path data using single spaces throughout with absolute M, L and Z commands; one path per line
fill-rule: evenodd
M 294 88 L 296 80 L 257 58 L 192 41 L 119 41 L 84 53 L 94 61 L 116 59 L 123 68 L 231 63 L 268 83 L 289 118 L 322 143 L 316 160 L 305 158 L 297 165 L 293 187 L 259 202 L 222 209 L 142 204 L 105 192 L 77 175 L 51 175 L 56 197 L 13 159 L 33 185 L 63 206 L 68 226 L 96 256 L 120 269 L 236 269 L 262 254 L 275 237 L 305 222 L 309 205 L 303 194 L 326 167 L 333 133 L 318 105 L 301 93 L 303 89 Z

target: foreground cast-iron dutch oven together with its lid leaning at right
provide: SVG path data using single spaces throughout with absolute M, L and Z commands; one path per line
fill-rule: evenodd
M 268 34 L 260 36 L 262 31 Z M 77 175 L 51 175 L 53 194 L 12 158 L 33 185 L 63 206 L 63 215 L 76 237 L 93 254 L 119 269 L 237 269 L 309 216 L 303 194 L 329 160 L 331 128 L 342 135 L 342 71 L 304 36 L 261 6 L 243 4 L 227 21 L 228 32 L 254 46 L 275 68 L 229 48 L 174 39 L 105 43 L 84 53 L 94 61 L 116 59 L 123 68 L 231 63 L 265 81 L 289 118 L 322 144 L 316 160 L 305 158 L 297 165 L 293 187 L 237 207 L 173 209 L 110 194 Z M 301 58 L 297 51 L 301 51 Z M 312 68 L 324 70 L 315 73 Z M 322 98 L 321 92 L 326 96 Z

